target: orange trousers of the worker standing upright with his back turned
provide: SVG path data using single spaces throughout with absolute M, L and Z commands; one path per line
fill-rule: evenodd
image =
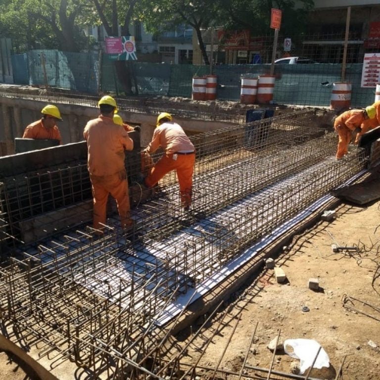
M 117 203 L 122 228 L 131 225 L 130 203 L 128 194 L 127 171 L 110 176 L 93 176 L 90 174 L 94 197 L 94 228 L 101 229 L 106 221 L 106 207 L 108 194 L 111 194 Z

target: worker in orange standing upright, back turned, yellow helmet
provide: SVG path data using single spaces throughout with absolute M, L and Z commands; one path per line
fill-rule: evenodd
M 117 112 L 116 101 L 109 95 L 103 96 L 98 107 L 100 115 L 90 120 L 83 136 L 88 147 L 88 170 L 94 196 L 94 228 L 101 230 L 106 221 L 106 205 L 111 194 L 117 202 L 123 229 L 133 226 L 130 215 L 127 171 L 124 150 L 133 149 L 128 133 L 113 122 Z

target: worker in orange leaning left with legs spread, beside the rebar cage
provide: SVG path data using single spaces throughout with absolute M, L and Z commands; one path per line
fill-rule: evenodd
M 181 126 L 172 120 L 172 115 L 167 112 L 162 112 L 157 117 L 152 141 L 144 149 L 144 152 L 151 154 L 159 147 L 162 147 L 165 153 L 151 168 L 150 173 L 145 177 L 144 183 L 147 187 L 151 188 L 165 174 L 176 170 L 180 185 L 181 204 L 185 210 L 189 210 L 191 205 L 195 148 Z

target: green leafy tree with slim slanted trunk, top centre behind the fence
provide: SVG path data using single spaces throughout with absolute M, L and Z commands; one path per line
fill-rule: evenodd
M 203 42 L 202 29 L 215 25 L 221 9 L 218 1 L 150 0 L 141 2 L 141 21 L 148 32 L 162 33 L 180 24 L 193 27 L 205 64 L 210 64 Z

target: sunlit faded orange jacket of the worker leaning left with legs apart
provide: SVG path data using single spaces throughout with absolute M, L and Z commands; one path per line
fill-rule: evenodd
M 182 127 L 173 122 L 166 122 L 156 127 L 153 132 L 152 141 L 146 147 L 145 151 L 153 153 L 159 147 L 162 147 L 166 154 L 195 150 L 194 145 L 186 136 Z

